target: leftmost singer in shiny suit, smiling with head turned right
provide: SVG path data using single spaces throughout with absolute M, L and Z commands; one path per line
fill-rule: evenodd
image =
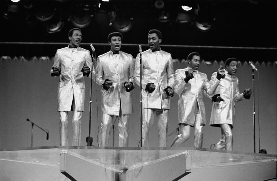
M 57 50 L 50 74 L 60 76 L 58 86 L 58 112 L 60 117 L 61 146 L 68 146 L 68 112 L 73 111 L 72 146 L 81 145 L 81 117 L 84 111 L 85 78 L 94 77 L 89 50 L 80 48 L 82 33 L 78 28 L 68 33 L 70 44 L 68 47 Z M 91 71 L 92 70 L 92 71 Z

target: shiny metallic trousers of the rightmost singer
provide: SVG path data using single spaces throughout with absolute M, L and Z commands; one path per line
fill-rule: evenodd
M 233 150 L 233 135 L 232 128 L 228 124 L 220 124 L 221 127 L 221 138 L 216 144 L 214 149 L 216 150 Z

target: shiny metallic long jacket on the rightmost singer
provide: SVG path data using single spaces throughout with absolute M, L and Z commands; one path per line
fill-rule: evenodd
M 216 80 L 216 72 L 212 74 L 210 83 Z M 235 118 L 235 101 L 244 99 L 239 93 L 239 80 L 236 76 L 225 71 L 225 78 L 220 80 L 214 94 L 220 94 L 225 101 L 213 102 L 210 125 L 220 127 L 218 124 L 233 125 Z

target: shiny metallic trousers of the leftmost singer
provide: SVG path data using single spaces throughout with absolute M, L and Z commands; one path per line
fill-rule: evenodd
M 68 146 L 68 111 L 60 111 L 60 142 L 61 146 Z M 81 146 L 81 120 L 82 111 L 73 111 L 72 127 L 73 140 L 72 146 Z

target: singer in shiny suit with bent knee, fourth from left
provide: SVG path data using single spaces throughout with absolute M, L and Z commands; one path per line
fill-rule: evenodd
M 188 55 L 188 67 L 175 71 L 175 93 L 179 94 L 178 121 L 181 128 L 171 147 L 179 147 L 190 137 L 190 129 L 194 127 L 194 147 L 202 148 L 203 127 L 206 124 L 203 91 L 212 94 L 220 82 L 223 68 L 218 69 L 218 78 L 210 84 L 207 75 L 198 71 L 200 55 L 192 52 Z

